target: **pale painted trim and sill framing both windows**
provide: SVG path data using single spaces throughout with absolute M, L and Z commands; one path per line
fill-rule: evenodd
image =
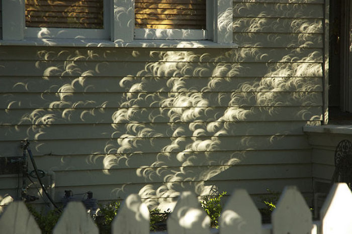
M 1 45 L 67 46 L 67 47 L 171 47 L 171 48 L 237 48 L 232 42 L 232 0 L 207 0 L 213 19 L 207 17 L 207 31 L 194 32 L 181 40 L 136 40 L 134 38 L 134 0 L 104 0 L 105 31 L 97 29 L 61 29 L 25 27 L 24 0 L 3 0 L 3 38 Z M 109 29 L 110 23 L 110 29 Z M 211 29 L 211 30 L 209 30 Z M 110 32 L 109 32 L 110 31 Z M 50 33 L 44 33 L 50 32 Z M 173 30 L 173 34 L 178 34 Z M 181 30 L 183 35 L 186 35 Z M 204 37 L 208 40 L 201 40 Z M 201 38 L 201 39 L 200 39 Z M 171 38 L 168 38 L 171 39 Z M 175 39 L 175 37 L 173 37 Z

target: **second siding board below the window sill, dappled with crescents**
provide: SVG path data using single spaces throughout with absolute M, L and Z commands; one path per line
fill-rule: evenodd
M 97 67 L 98 70 L 92 70 Z M 179 70 L 179 67 L 187 66 L 187 69 Z M 74 68 L 74 69 L 73 69 Z M 158 68 L 158 69 L 155 69 Z M 220 70 L 219 70 L 220 69 Z M 289 72 L 285 72 L 288 71 Z M 177 70 L 179 72 L 170 72 Z M 284 71 L 285 73 L 272 73 L 271 71 Z M 18 62 L 4 61 L 0 72 L 4 76 L 73 76 L 88 73 L 99 76 L 198 76 L 211 77 L 214 71 L 219 71 L 218 76 L 232 77 L 241 74 L 241 77 L 271 76 L 271 77 L 292 77 L 297 76 L 292 71 L 300 71 L 299 76 L 322 76 L 321 63 L 310 62 L 273 62 L 273 63 L 200 63 L 200 62 L 174 62 L 165 66 L 164 62 L 102 62 L 76 61 L 71 63 L 58 63 L 46 61 L 38 64 L 36 61 L 23 61 L 21 67 Z M 221 72 L 220 72 L 221 71 Z M 302 71 L 302 72 L 301 72 Z M 175 75 L 177 74 L 177 75 Z

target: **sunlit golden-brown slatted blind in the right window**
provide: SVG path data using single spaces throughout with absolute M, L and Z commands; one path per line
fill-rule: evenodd
M 206 0 L 135 0 L 135 28 L 206 29 Z

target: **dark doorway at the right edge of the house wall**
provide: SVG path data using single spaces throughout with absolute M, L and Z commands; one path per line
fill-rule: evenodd
M 351 1 L 330 1 L 329 123 L 352 124 Z

